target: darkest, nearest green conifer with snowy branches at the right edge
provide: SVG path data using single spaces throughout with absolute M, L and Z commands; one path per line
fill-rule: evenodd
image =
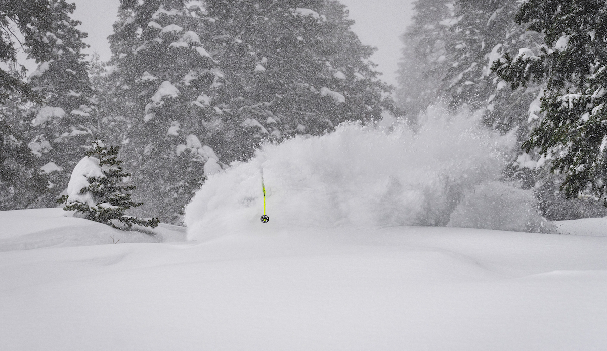
M 524 148 L 539 150 L 553 172 L 565 175 L 561 190 L 568 198 L 585 190 L 602 198 L 607 191 L 607 4 L 528 0 L 516 19 L 545 35 L 540 50 L 521 45 L 518 55 L 504 55 L 492 66 L 512 89 L 546 84 L 543 118 Z

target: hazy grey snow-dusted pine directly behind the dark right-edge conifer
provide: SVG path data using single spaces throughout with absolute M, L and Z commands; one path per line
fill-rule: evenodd
M 452 107 L 484 109 L 487 125 L 502 133 L 517 129 L 522 142 L 538 112 L 534 110 L 534 100 L 540 87 L 532 85 L 512 94 L 490 70 L 493 61 L 504 53 L 516 52 L 518 45 L 540 44 L 537 33 L 526 32 L 515 23 L 517 9 L 516 0 L 456 1 L 458 22 L 453 25 L 454 35 L 447 45 L 451 68 L 446 75 L 446 90 Z

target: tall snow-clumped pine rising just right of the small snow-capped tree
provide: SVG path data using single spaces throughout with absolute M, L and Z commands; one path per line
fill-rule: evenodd
M 114 142 L 141 184 L 138 210 L 179 222 L 206 175 L 220 169 L 208 146 L 224 139 L 220 107 L 211 104 L 213 87 L 223 84 L 209 54 L 215 19 L 200 2 L 181 0 L 123 1 L 118 18 L 104 119 L 123 129 Z

